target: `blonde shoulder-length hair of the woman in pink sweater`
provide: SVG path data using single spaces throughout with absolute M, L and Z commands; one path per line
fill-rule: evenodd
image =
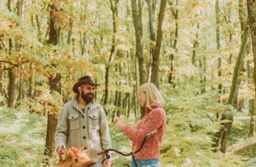
M 158 103 L 161 106 L 164 106 L 165 104 L 164 98 L 162 98 L 162 94 L 160 93 L 158 88 L 156 88 L 156 86 L 151 82 L 139 86 L 138 93 L 146 94 L 146 107 L 150 108 L 150 110 L 152 110 L 150 106 L 152 106 L 152 104 L 154 103 Z

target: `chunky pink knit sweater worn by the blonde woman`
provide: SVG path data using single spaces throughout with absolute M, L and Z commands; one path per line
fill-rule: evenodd
M 129 125 L 126 125 L 123 129 L 123 134 L 133 141 L 132 148 L 136 147 L 137 149 L 147 133 L 158 130 L 158 133 L 147 138 L 141 151 L 135 154 L 139 160 L 159 158 L 159 145 L 162 143 L 166 131 L 166 114 L 162 106 L 155 103 L 152 104 L 151 108 L 152 110 L 147 108 L 145 116 L 137 123 L 136 129 Z

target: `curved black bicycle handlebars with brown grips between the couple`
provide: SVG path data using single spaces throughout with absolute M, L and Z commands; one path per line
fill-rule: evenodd
M 104 158 L 104 160 L 108 160 L 108 159 L 110 158 L 110 155 L 109 155 L 109 153 L 108 153 L 108 152 L 110 152 L 110 151 L 113 151 L 113 152 L 116 152 L 116 153 L 118 153 L 118 154 L 121 154 L 122 156 L 131 156 L 131 157 L 133 158 L 133 162 L 135 163 L 135 166 L 136 166 L 136 167 L 139 167 L 138 164 L 137 164 L 137 162 L 135 161 L 135 158 L 136 158 L 136 157 L 135 157 L 135 154 L 141 151 L 141 149 L 143 148 L 144 143 L 146 142 L 146 139 L 147 139 L 148 137 L 150 137 L 151 135 L 154 135 L 154 134 L 156 134 L 156 133 L 158 133 L 157 130 L 156 130 L 156 131 L 152 131 L 152 132 L 148 133 L 147 135 L 145 135 L 145 137 L 143 137 L 143 140 L 142 140 L 142 143 L 141 143 L 139 149 L 137 149 L 136 147 L 134 147 L 134 148 L 133 148 L 134 150 L 133 150 L 132 152 L 130 152 L 130 153 L 120 152 L 120 151 L 117 150 L 117 149 L 110 148 L 110 149 L 105 149 L 105 150 L 102 150 L 101 152 L 98 152 L 97 155 L 100 156 L 100 155 L 102 155 L 102 154 L 105 154 L 105 155 L 106 155 L 106 158 Z M 137 149 L 137 150 L 135 150 L 135 149 Z M 103 164 L 104 160 L 102 160 L 102 164 Z

